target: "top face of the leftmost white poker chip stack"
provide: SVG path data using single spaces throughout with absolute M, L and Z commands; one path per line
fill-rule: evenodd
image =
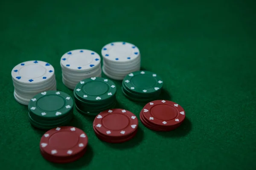
M 21 84 L 47 82 L 54 76 L 54 68 L 43 61 L 26 61 L 12 69 L 12 78 Z

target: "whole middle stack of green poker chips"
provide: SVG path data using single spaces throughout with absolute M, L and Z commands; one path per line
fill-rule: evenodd
M 80 81 L 74 89 L 76 110 L 87 116 L 116 106 L 116 85 L 109 79 L 91 77 Z

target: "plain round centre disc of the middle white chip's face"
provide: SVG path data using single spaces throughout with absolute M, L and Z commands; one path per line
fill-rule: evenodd
M 87 55 L 86 52 L 83 52 L 79 54 L 73 54 L 67 59 L 67 61 L 72 65 L 87 65 L 93 61 L 93 57 L 91 55 Z

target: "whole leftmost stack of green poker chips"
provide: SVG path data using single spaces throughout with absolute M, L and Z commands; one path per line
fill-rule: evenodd
M 62 91 L 45 91 L 29 101 L 29 122 L 39 129 L 49 130 L 67 125 L 73 119 L 74 102 Z

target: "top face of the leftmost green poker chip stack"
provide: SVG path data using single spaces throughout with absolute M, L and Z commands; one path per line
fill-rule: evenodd
M 45 91 L 29 102 L 29 110 L 42 118 L 61 118 L 73 109 L 73 99 L 62 91 Z

